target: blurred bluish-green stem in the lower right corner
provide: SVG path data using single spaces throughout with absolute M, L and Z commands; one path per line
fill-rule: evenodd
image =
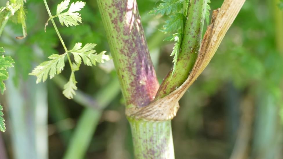
M 278 158 L 281 151 L 282 125 L 278 106 L 273 95 L 260 91 L 256 103 L 255 131 L 253 134 L 253 158 Z M 281 154 L 280 154 L 281 155 Z M 279 157 L 280 158 L 280 157 Z

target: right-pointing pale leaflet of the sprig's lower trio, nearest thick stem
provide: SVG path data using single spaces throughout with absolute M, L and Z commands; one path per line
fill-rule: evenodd
M 110 59 L 109 55 L 105 55 L 106 51 L 102 51 L 97 54 L 93 48 L 96 44 L 88 43 L 82 47 L 82 43 L 76 43 L 72 50 L 69 52 L 74 55 L 75 62 L 81 64 L 82 61 L 87 66 L 96 65 L 98 63 L 104 63 L 104 60 L 108 61 Z

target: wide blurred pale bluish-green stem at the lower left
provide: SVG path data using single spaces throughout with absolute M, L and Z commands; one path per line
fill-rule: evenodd
M 14 71 L 10 69 L 11 77 Z M 47 159 L 47 91 L 46 84 L 36 84 L 34 77 L 16 88 L 7 80 L 6 99 L 9 105 L 11 138 L 17 159 Z M 32 91 L 31 91 L 32 90 Z

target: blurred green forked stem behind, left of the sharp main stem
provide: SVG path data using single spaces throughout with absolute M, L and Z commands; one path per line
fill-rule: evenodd
M 54 82 L 61 88 L 63 86 L 61 83 L 65 83 L 65 81 L 66 80 L 60 75 L 54 77 Z M 73 100 L 82 106 L 85 106 L 86 109 L 80 116 L 64 158 L 80 159 L 84 157 L 91 141 L 90 139 L 92 138 L 100 120 L 103 109 L 118 95 L 120 92 L 119 88 L 118 79 L 114 77 L 107 86 L 98 91 L 97 95 L 94 97 L 95 100 L 89 98 L 88 95 L 85 95 L 79 90 L 76 91 L 76 95 Z M 86 100 L 86 98 L 88 98 L 88 100 Z

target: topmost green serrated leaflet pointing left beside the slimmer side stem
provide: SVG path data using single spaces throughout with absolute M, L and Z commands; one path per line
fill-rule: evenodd
M 161 14 L 169 15 L 171 12 L 179 12 L 183 8 L 184 0 L 161 0 L 163 3 L 160 3 L 158 7 L 153 8 L 149 14 Z

